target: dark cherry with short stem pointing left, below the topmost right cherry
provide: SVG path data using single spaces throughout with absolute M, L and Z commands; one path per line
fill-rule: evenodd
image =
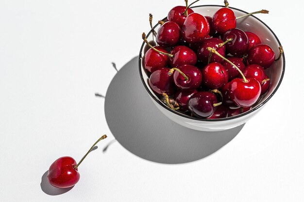
M 249 40 L 244 31 L 240 29 L 231 29 L 224 33 L 223 41 L 233 38 L 226 44 L 226 50 L 233 56 L 241 57 L 247 53 L 249 48 Z

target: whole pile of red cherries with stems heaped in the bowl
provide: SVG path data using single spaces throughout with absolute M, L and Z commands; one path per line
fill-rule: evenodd
M 166 22 L 152 28 L 157 46 L 146 34 L 143 40 L 151 47 L 144 56 L 144 67 L 152 91 L 170 109 L 190 116 L 217 119 L 246 112 L 270 87 L 265 69 L 275 59 L 273 49 L 261 44 L 256 33 L 236 28 L 233 10 L 220 8 L 213 17 L 194 13 L 187 6 L 169 11 Z M 196 1 L 195 1 L 196 2 Z

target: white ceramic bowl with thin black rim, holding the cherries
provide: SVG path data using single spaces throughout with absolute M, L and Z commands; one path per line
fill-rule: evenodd
M 212 17 L 213 14 L 221 7 L 223 6 L 203 5 L 203 6 L 192 7 L 192 9 L 194 12 L 199 13 L 203 16 Z M 242 16 L 244 14 L 248 14 L 247 12 L 236 8 L 232 8 L 232 7 L 229 8 L 235 12 L 236 16 Z M 158 26 L 159 25 L 156 25 L 154 29 L 157 30 Z M 255 16 L 248 16 L 245 18 L 241 18 L 237 20 L 236 27 L 243 31 L 252 31 L 253 33 L 256 33 L 260 37 L 262 43 L 268 44 L 270 47 L 272 47 L 272 49 L 276 54 L 276 57 L 278 57 L 279 55 L 278 47 L 281 46 L 281 43 L 274 34 L 274 32 L 260 19 L 258 19 Z M 147 38 L 148 41 L 152 41 L 151 31 L 147 34 Z M 149 93 L 152 99 L 152 102 L 162 113 L 164 113 L 169 119 L 176 122 L 177 124 L 201 131 L 221 131 L 221 130 L 234 128 L 241 124 L 245 124 L 249 119 L 251 119 L 257 112 L 259 112 L 265 106 L 268 100 L 270 100 L 273 94 L 278 90 L 282 82 L 285 71 L 285 57 L 283 53 L 282 58 L 279 61 L 274 62 L 272 66 L 266 70 L 266 73 L 271 80 L 270 88 L 268 92 L 263 96 L 263 98 L 252 107 L 252 109 L 240 115 L 228 117 L 228 118 L 200 119 L 196 117 L 187 116 L 181 112 L 169 109 L 166 106 L 166 104 L 161 102 L 157 97 L 157 95 L 152 91 L 148 83 L 149 80 L 148 74 L 143 66 L 144 55 L 145 55 L 145 51 L 147 50 L 148 47 L 145 45 L 145 43 L 143 43 L 139 52 L 139 74 L 143 82 L 143 85 L 147 90 L 147 93 Z

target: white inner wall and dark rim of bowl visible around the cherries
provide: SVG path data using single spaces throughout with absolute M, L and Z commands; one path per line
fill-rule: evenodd
M 203 6 L 195 6 L 192 7 L 193 11 L 196 13 L 199 13 L 203 16 L 213 16 L 214 13 L 220 9 L 220 5 L 203 5 Z M 232 8 L 230 7 L 230 9 L 232 9 L 236 16 L 242 16 L 244 14 L 248 14 L 245 11 L 236 9 L 236 8 Z M 257 17 L 255 16 L 248 16 L 248 17 L 244 17 L 241 18 L 239 20 L 237 20 L 237 28 L 243 30 L 243 31 L 251 31 L 255 34 L 257 34 L 259 36 L 259 38 L 262 41 L 262 44 L 267 44 L 270 47 L 272 47 L 273 51 L 275 52 L 276 58 L 279 56 L 280 52 L 278 47 L 281 45 L 280 41 L 278 40 L 278 38 L 275 36 L 275 34 L 273 33 L 273 31 L 271 31 L 271 29 L 265 24 L 263 23 L 261 20 L 259 20 Z M 157 29 L 159 28 L 159 25 L 155 26 L 154 29 L 157 31 Z M 153 41 L 153 36 L 151 34 L 151 31 L 149 32 L 149 34 L 147 34 L 147 39 L 149 42 L 152 43 L 152 45 L 156 45 L 155 42 Z M 146 71 L 146 69 L 144 68 L 144 55 L 145 52 L 149 49 L 148 46 L 146 46 L 144 43 L 142 45 L 141 51 L 140 51 L 140 55 L 139 55 L 139 72 L 141 75 L 141 79 L 144 83 L 145 88 L 147 89 L 148 93 L 150 94 L 150 96 L 152 97 L 152 99 L 154 99 L 155 101 L 157 101 L 160 105 L 162 105 L 164 108 L 166 108 L 167 110 L 172 111 L 173 113 L 179 114 L 181 116 L 187 117 L 189 119 L 196 119 L 196 120 L 202 120 L 202 121 L 221 121 L 221 120 L 227 120 L 227 119 L 233 119 L 236 118 L 238 116 L 243 116 L 246 115 L 250 112 L 252 112 L 255 109 L 260 108 L 262 105 L 264 105 L 270 98 L 271 96 L 276 92 L 276 90 L 278 89 L 282 79 L 283 79 L 283 75 L 284 75 L 284 71 L 285 71 L 285 57 L 284 57 L 284 53 L 282 58 L 279 61 L 276 61 L 272 64 L 272 66 L 268 69 L 266 69 L 266 74 L 268 75 L 268 77 L 270 78 L 270 88 L 268 90 L 267 93 L 265 93 L 263 95 L 263 97 L 259 100 L 259 102 L 257 102 L 251 110 L 242 113 L 240 115 L 237 116 L 233 116 L 233 117 L 229 117 L 229 118 L 223 118 L 223 119 L 215 119 L 215 120 L 210 120 L 210 119 L 199 119 L 196 117 L 190 117 L 190 116 L 186 116 L 185 114 L 179 112 L 179 111 L 174 111 L 172 109 L 169 109 L 163 102 L 161 102 L 158 98 L 158 96 L 152 91 L 152 89 L 149 86 L 149 76 L 150 73 Z

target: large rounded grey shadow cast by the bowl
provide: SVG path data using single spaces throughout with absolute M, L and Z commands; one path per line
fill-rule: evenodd
M 113 78 L 104 103 L 112 134 L 134 155 L 157 163 L 188 163 L 215 153 L 243 128 L 203 132 L 172 122 L 152 103 L 138 74 L 135 57 Z

